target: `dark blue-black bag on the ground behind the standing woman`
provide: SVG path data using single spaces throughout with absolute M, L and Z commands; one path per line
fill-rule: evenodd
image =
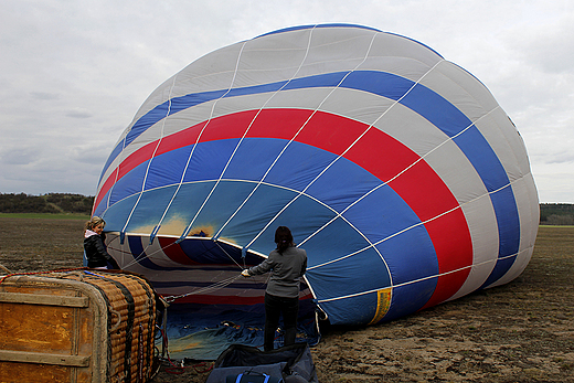
M 232 344 L 223 351 L 205 383 L 224 383 L 227 376 L 258 372 L 285 383 L 319 383 L 311 350 L 307 343 L 295 343 L 269 352 L 251 345 Z M 251 375 L 253 376 L 253 375 Z

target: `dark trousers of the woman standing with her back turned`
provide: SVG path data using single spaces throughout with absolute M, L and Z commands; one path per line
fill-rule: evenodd
M 279 326 L 280 315 L 283 315 L 283 323 L 285 327 L 284 345 L 294 344 L 297 334 L 299 297 L 285 298 L 265 292 L 265 332 L 263 345 L 265 351 L 273 350 L 275 330 Z

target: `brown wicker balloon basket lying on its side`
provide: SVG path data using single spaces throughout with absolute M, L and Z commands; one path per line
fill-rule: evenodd
M 148 382 L 158 297 L 141 276 L 0 277 L 1 382 Z

